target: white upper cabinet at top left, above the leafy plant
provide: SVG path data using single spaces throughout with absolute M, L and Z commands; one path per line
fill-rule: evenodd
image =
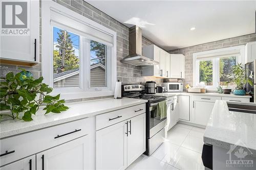
M 21 34 L 1 35 L 0 58 L 2 63 L 33 66 L 39 61 L 39 1 L 23 2 L 20 7 L 23 13 L 27 12 L 27 18 L 13 17 L 11 26 L 6 21 L 6 30 L 18 30 Z

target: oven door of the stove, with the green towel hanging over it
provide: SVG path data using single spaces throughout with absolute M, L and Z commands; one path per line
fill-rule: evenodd
M 156 115 L 158 103 L 150 104 L 150 138 L 161 131 L 167 124 L 166 117 L 160 119 L 159 116 Z

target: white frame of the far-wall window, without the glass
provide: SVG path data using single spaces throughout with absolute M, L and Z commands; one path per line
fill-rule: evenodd
M 234 54 L 237 53 L 237 54 Z M 231 57 L 234 54 L 237 63 L 245 62 L 245 45 L 220 48 L 217 50 L 199 52 L 193 54 L 193 86 L 199 84 L 199 63 L 200 61 L 212 60 L 212 85 L 206 86 L 207 90 L 214 90 L 219 86 L 220 82 L 220 58 Z M 230 56 L 229 56 L 230 55 Z M 211 57 L 209 57 L 211 56 Z M 230 86 L 234 88 L 234 86 Z

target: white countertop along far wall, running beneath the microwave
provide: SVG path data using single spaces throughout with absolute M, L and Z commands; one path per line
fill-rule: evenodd
M 156 95 L 164 95 L 170 97 L 174 95 L 209 95 L 209 96 L 220 96 L 228 98 L 251 98 L 251 95 L 234 95 L 234 94 L 224 94 L 224 93 L 189 93 L 189 92 L 166 92 L 166 93 L 156 93 Z

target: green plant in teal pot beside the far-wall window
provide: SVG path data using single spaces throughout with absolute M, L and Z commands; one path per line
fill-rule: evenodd
M 246 93 L 244 89 L 245 84 L 249 83 L 251 86 L 253 86 L 252 81 L 245 76 L 246 69 L 242 66 L 242 63 L 233 65 L 231 69 L 232 69 L 231 82 L 236 84 L 236 89 L 234 89 L 233 93 L 235 95 L 245 95 Z

